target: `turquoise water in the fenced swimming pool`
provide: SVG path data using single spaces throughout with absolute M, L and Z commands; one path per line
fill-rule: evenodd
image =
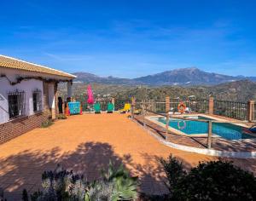
M 190 117 L 189 117 L 190 118 Z M 211 120 L 210 118 L 197 117 L 197 119 Z M 160 123 L 166 124 L 166 118 L 158 118 Z M 172 118 L 170 127 L 180 130 L 187 135 L 207 134 L 208 123 L 192 120 L 179 120 Z M 212 134 L 219 135 L 227 140 L 251 139 L 252 135 L 242 132 L 242 127 L 231 123 L 212 123 Z

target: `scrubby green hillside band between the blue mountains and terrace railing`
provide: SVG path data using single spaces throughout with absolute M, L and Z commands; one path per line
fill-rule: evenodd
M 154 99 L 164 100 L 166 95 L 172 98 L 186 98 L 195 96 L 198 99 L 207 99 L 213 95 L 218 100 L 247 101 L 256 100 L 256 83 L 248 80 L 222 83 L 216 86 L 126 86 L 115 84 L 91 83 L 95 95 L 111 95 L 116 99 L 126 100 L 135 96 L 137 100 Z M 86 95 L 87 84 L 73 83 L 74 95 Z M 67 95 L 67 86 L 61 84 L 59 87 L 60 95 Z

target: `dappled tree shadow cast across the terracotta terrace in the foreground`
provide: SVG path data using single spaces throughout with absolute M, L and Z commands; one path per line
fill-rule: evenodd
M 145 163 L 137 164 L 130 154 L 119 156 L 108 143 L 92 141 L 80 144 L 74 152 L 63 153 L 58 146 L 49 151 L 26 150 L 8 158 L 0 158 L 0 187 L 8 200 L 20 200 L 24 188 L 29 193 L 41 189 L 42 173 L 55 169 L 57 164 L 93 181 L 101 176 L 101 170 L 107 169 L 109 161 L 112 161 L 115 166 L 124 164 L 125 168 L 131 170 L 131 175 L 138 176 L 139 191 L 166 193 L 160 158 L 148 154 L 141 154 L 141 157 Z

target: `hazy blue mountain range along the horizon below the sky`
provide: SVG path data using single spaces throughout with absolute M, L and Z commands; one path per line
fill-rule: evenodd
M 256 77 L 229 76 L 214 72 L 204 72 L 196 67 L 179 68 L 172 71 L 160 72 L 140 78 L 114 78 L 112 76 L 102 78 L 88 72 L 74 72 L 77 83 L 104 83 L 123 85 L 216 85 L 219 83 L 230 83 L 239 80 L 250 80 L 256 82 Z

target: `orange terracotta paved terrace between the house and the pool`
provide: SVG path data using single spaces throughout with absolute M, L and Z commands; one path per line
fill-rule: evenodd
M 56 164 L 84 174 L 91 181 L 112 160 L 139 176 L 140 191 L 159 194 L 166 192 L 166 187 L 158 159 L 171 153 L 183 159 L 188 169 L 199 161 L 215 159 L 164 146 L 122 114 L 72 116 L 1 145 L 0 186 L 9 200 L 20 200 L 23 188 L 37 191 L 42 172 L 55 169 Z M 240 159 L 235 164 L 256 169 L 255 160 Z

